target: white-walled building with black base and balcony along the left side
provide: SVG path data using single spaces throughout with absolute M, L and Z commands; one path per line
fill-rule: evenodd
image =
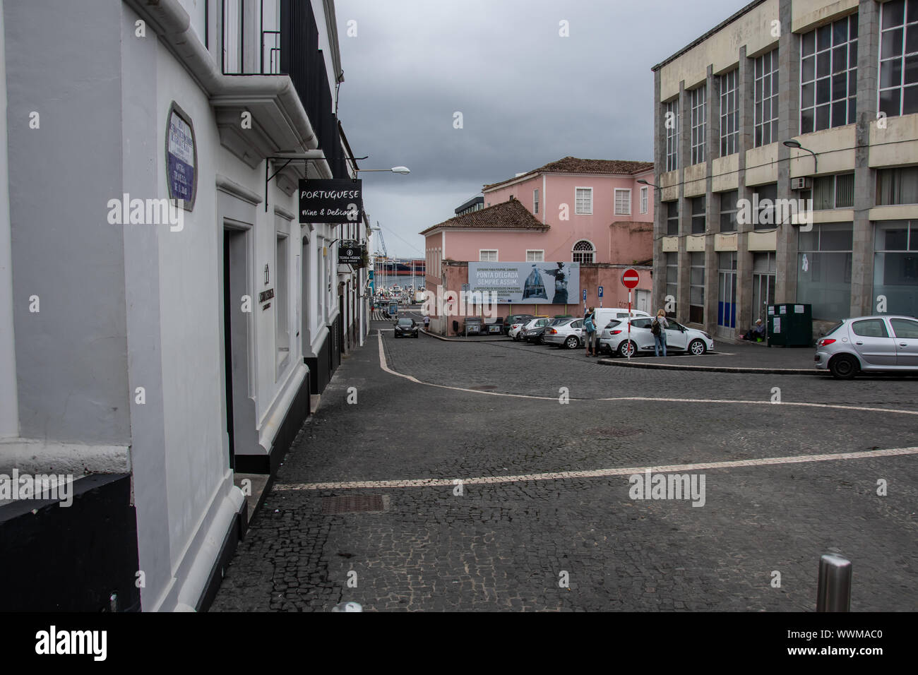
M 365 221 L 297 218 L 298 179 L 356 168 L 334 4 L 0 20 L 0 474 L 78 478 L 71 508 L 0 504 L 0 608 L 206 609 L 252 483 L 367 326 L 337 255 Z

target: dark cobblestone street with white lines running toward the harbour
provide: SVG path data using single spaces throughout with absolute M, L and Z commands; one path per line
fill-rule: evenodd
M 852 610 L 918 609 L 914 378 L 615 368 L 388 328 L 322 394 L 214 611 L 812 611 L 830 552 Z M 632 499 L 644 467 L 703 477 L 703 500 Z

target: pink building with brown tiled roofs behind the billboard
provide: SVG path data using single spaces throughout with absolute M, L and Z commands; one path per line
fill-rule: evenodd
M 578 263 L 578 288 L 587 304 L 627 305 L 621 272 L 636 267 L 641 283 L 635 307 L 650 311 L 653 258 L 654 164 L 565 157 L 526 174 L 484 186 L 485 208 L 422 231 L 427 289 L 459 292 L 468 283 L 468 263 Z M 577 314 L 582 299 L 568 304 L 506 303 L 512 313 Z M 646 307 L 644 307 L 646 306 Z M 452 333 L 453 317 L 431 314 L 431 329 Z M 458 321 L 461 326 L 463 321 Z

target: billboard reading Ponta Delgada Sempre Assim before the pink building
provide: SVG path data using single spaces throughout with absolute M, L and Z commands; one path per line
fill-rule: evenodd
M 468 283 L 475 293 L 493 292 L 498 302 L 576 305 L 579 263 L 469 263 Z

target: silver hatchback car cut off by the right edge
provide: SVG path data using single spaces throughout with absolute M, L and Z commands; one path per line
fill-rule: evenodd
M 850 379 L 863 371 L 918 373 L 918 319 L 879 314 L 843 319 L 816 342 L 816 368 Z

